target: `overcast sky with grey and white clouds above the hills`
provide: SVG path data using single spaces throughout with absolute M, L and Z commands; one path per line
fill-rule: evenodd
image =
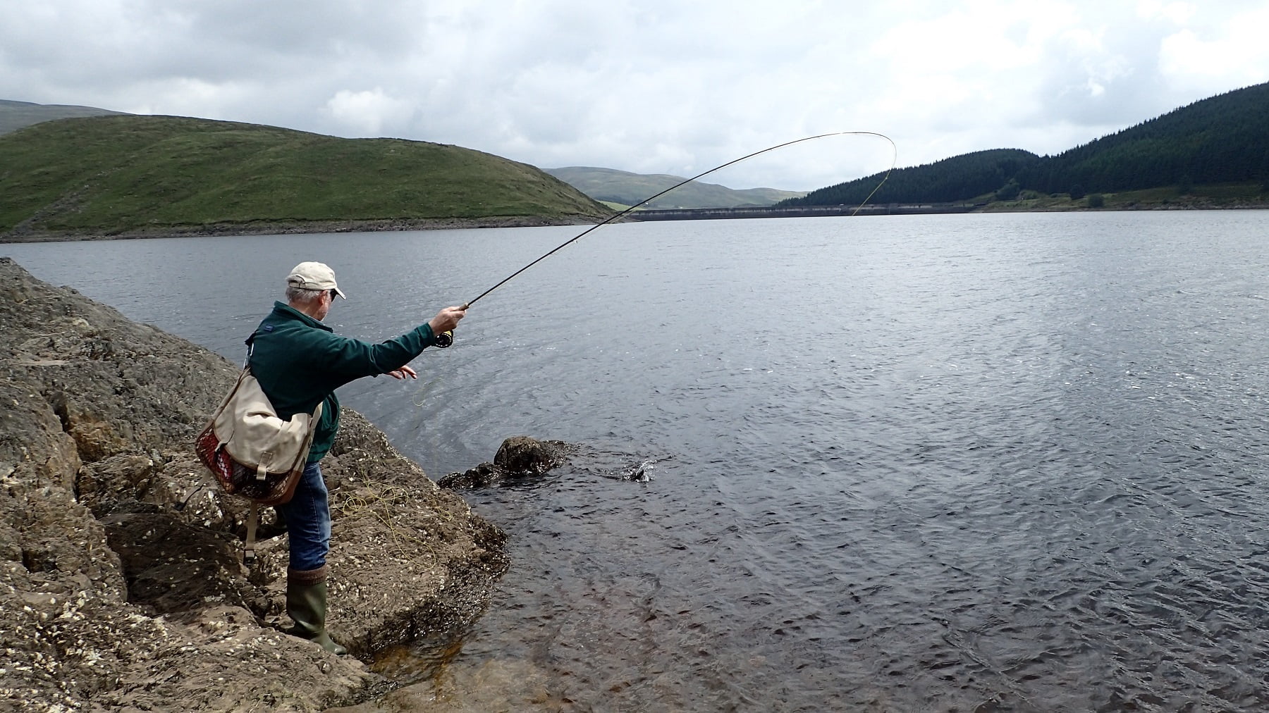
M 1057 154 L 1269 81 L 1269 0 L 3 0 L 0 99 L 690 176 Z M 713 183 L 887 169 L 868 136 Z

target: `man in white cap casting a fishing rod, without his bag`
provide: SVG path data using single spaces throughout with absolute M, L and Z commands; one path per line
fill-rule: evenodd
M 346 650 L 326 632 L 326 553 L 330 551 L 330 506 L 319 462 L 330 450 L 339 429 L 335 389 L 362 377 L 388 374 L 418 378 L 407 364 L 428 346 L 440 343 L 466 316 L 467 306 L 445 307 L 426 324 L 379 344 L 334 334 L 322 324 L 335 297 L 344 292 L 335 271 L 324 263 L 301 263 L 287 275 L 287 303 L 253 332 L 251 373 L 282 419 L 312 414 L 322 405 L 307 464 L 294 496 L 277 505 L 287 523 L 291 561 L 287 568 L 287 614 L 291 633 L 315 641 L 338 655 Z

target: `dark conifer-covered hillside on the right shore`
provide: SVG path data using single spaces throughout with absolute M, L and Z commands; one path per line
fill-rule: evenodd
M 1195 193 L 1214 204 L 1255 203 L 1258 194 L 1269 192 L 1266 117 L 1269 82 L 1195 101 L 1057 156 L 1001 148 L 900 169 L 869 203 L 1018 203 L 1041 194 L 1082 199 L 1090 193 L 1169 188 L 1146 198 L 1166 203 L 1200 185 L 1211 189 Z M 782 206 L 858 204 L 882 175 L 813 190 Z

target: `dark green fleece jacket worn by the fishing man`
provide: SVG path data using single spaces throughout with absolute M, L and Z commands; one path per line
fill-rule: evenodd
M 321 461 L 335 443 L 339 430 L 336 388 L 362 377 L 400 369 L 437 344 L 426 324 L 379 344 L 339 336 L 329 326 L 282 302 L 273 303 L 273 312 L 255 329 L 251 340 L 251 374 L 278 416 L 312 414 L 322 403 L 321 421 L 308 449 L 310 463 Z

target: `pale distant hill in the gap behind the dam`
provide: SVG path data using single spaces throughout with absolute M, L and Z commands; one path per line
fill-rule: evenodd
M 567 166 L 563 169 L 546 169 L 546 171 L 595 200 L 608 200 L 622 206 L 634 206 L 651 195 L 656 195 L 687 180 L 685 178 L 667 174 L 632 174 L 615 169 L 596 169 L 590 166 Z M 774 188 L 732 189 L 712 183 L 692 181 L 643 207 L 673 209 L 774 206 L 786 198 L 799 195 L 803 195 L 803 193 Z

